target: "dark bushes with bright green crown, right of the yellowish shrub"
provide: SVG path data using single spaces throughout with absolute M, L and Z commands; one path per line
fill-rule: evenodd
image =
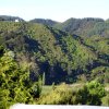
M 100 83 L 93 81 L 90 83 L 87 83 L 83 88 L 78 89 L 77 92 L 73 92 L 71 104 L 100 106 L 101 98 L 104 96 L 104 86 Z

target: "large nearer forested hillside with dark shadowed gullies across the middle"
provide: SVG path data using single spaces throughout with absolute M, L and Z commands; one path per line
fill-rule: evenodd
M 102 22 L 102 21 L 101 21 Z M 46 84 L 99 80 L 109 82 L 109 38 L 82 38 L 47 25 L 0 22 L 0 46 L 11 51 L 32 80 Z

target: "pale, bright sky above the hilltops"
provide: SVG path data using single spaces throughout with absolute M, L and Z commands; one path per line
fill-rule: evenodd
M 109 19 L 109 0 L 0 0 L 0 15 L 20 16 L 26 21 L 70 17 Z

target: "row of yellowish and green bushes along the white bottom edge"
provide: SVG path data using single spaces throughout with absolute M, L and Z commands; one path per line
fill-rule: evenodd
M 41 96 L 37 104 L 41 105 L 101 105 L 105 97 L 105 88 L 100 83 L 90 82 L 84 87 L 73 89 L 71 86 L 61 84 L 56 86 L 49 94 Z

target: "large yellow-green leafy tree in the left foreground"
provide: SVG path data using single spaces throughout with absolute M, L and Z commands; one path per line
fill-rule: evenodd
M 10 51 L 0 58 L 0 108 L 7 109 L 15 102 L 34 102 L 33 87 L 39 87 L 39 83 L 29 78 L 29 72 L 22 71 Z M 37 90 L 35 93 L 40 93 Z M 38 96 L 35 96 L 38 97 Z

